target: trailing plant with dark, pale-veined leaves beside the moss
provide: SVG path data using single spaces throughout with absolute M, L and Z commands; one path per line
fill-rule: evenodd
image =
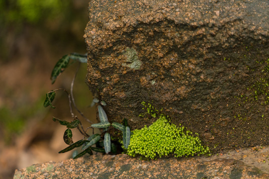
M 87 63 L 87 56 L 77 54 L 77 53 L 72 53 L 72 54 L 63 56 L 56 63 L 55 67 L 52 70 L 52 73 L 51 73 L 52 84 L 61 75 L 61 73 L 69 65 L 72 64 L 72 63 L 70 64 L 70 60 L 73 60 L 72 63 L 74 63 L 76 61 L 79 63 Z M 76 74 L 75 74 L 75 77 L 76 77 Z M 55 108 L 55 106 L 52 105 L 52 101 L 54 100 L 55 95 L 56 95 L 55 91 L 63 90 L 68 94 L 70 113 L 73 117 L 73 120 L 71 122 L 68 122 L 65 120 L 58 119 L 56 117 L 52 118 L 53 121 L 59 122 L 61 125 L 64 125 L 67 127 L 67 129 L 65 130 L 64 135 L 63 135 L 63 140 L 69 146 L 67 148 L 61 150 L 59 153 L 65 153 L 65 152 L 71 151 L 71 150 L 78 148 L 78 147 L 81 147 L 82 152 L 79 154 L 77 154 L 77 152 L 73 153 L 74 159 L 81 157 L 87 153 L 90 155 L 93 155 L 93 151 L 100 152 L 100 153 L 106 153 L 106 154 L 108 154 L 110 152 L 116 153 L 117 147 L 114 143 L 111 142 L 111 136 L 110 136 L 110 133 L 108 132 L 108 129 L 110 126 L 116 128 L 118 130 L 123 131 L 124 146 L 127 149 L 129 144 L 130 144 L 130 139 L 131 139 L 131 131 L 130 131 L 130 127 L 128 126 L 127 119 L 124 119 L 124 125 L 117 123 L 117 122 L 113 122 L 111 124 L 108 120 L 108 117 L 107 117 L 105 110 L 101 106 L 101 105 L 103 105 L 103 106 L 107 105 L 107 103 L 104 100 L 100 101 L 99 99 L 95 98 L 95 99 L 93 99 L 93 102 L 91 104 L 91 106 L 94 106 L 96 103 L 100 102 L 100 105 L 97 106 L 100 123 L 92 124 L 91 127 L 88 127 L 88 128 L 93 128 L 93 134 L 91 136 L 89 136 L 86 133 L 87 130 L 85 131 L 83 129 L 83 127 L 81 125 L 81 121 L 79 120 L 79 118 L 77 116 L 74 115 L 74 113 L 72 112 L 72 107 L 71 107 L 72 106 L 71 104 L 73 104 L 75 106 L 75 108 L 77 109 L 77 111 L 85 118 L 85 116 L 76 107 L 76 104 L 75 104 L 75 101 L 73 98 L 73 94 L 72 94 L 72 89 L 73 89 L 75 77 L 74 77 L 73 82 L 71 84 L 71 95 L 65 89 L 55 89 L 55 90 L 51 90 L 48 93 L 46 93 L 46 98 L 44 101 L 44 107 L 50 106 L 52 108 Z M 91 121 L 89 121 L 89 122 L 91 122 Z M 105 132 L 105 134 L 103 136 L 104 139 L 102 139 L 100 134 L 94 134 L 94 127 L 100 128 L 103 132 Z M 82 139 L 82 140 L 79 140 L 79 141 L 74 143 L 72 140 L 73 134 L 71 131 L 71 129 L 73 129 L 73 128 L 77 128 L 78 130 L 80 130 L 80 132 L 83 134 L 84 137 L 88 136 L 88 138 L 86 140 Z M 93 145 L 96 145 L 96 147 L 93 147 Z

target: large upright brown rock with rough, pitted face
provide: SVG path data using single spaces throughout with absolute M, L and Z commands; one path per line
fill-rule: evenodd
M 150 102 L 211 150 L 269 144 L 268 0 L 91 0 L 86 82 L 131 129 Z

